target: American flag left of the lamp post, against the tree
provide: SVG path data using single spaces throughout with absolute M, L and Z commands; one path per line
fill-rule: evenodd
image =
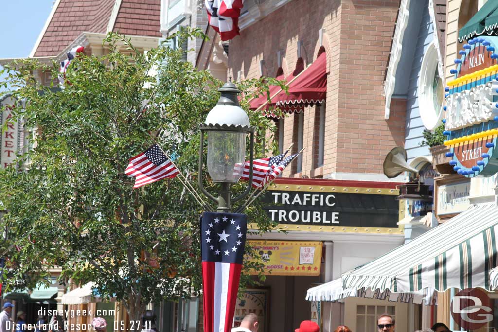
M 138 188 L 157 180 L 174 178 L 178 174 L 178 169 L 161 148 L 154 144 L 145 152 L 131 158 L 124 173 L 129 177 L 135 177 L 133 188 Z

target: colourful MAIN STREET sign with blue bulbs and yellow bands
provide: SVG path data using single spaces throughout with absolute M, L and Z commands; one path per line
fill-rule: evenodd
M 497 37 L 478 37 L 463 45 L 448 82 L 445 119 L 452 157 L 450 165 L 459 174 L 472 178 L 491 176 L 498 171 L 498 49 Z

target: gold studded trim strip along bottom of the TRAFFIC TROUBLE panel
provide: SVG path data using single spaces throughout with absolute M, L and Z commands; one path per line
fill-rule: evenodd
M 248 229 L 258 229 L 257 223 L 249 222 Z M 273 228 L 274 230 L 297 230 L 297 231 L 312 231 L 312 232 L 327 232 L 327 233 L 357 233 L 357 234 L 404 234 L 404 225 L 399 225 L 398 228 L 383 228 L 383 227 L 358 227 L 358 226 L 318 226 L 318 225 L 295 225 L 279 223 Z

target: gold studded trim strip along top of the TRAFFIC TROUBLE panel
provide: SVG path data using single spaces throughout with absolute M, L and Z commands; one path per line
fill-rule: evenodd
M 340 186 L 307 186 L 273 183 L 268 190 L 285 190 L 300 192 L 325 192 L 325 193 L 348 193 L 348 194 L 371 194 L 399 196 L 399 189 L 393 188 L 364 188 L 364 187 L 340 187 Z

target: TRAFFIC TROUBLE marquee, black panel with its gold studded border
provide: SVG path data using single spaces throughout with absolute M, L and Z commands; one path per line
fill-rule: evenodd
M 313 180 L 308 181 L 312 183 Z M 399 232 L 397 222 L 400 203 L 396 201 L 397 190 L 339 186 L 300 188 L 298 185 L 277 184 L 260 198 L 266 215 L 277 222 L 279 228 Z

